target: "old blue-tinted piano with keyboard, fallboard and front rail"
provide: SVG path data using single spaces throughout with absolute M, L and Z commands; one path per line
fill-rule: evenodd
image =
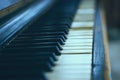
M 99 1 L 36 0 L 10 15 L 0 19 L 0 80 L 111 80 Z

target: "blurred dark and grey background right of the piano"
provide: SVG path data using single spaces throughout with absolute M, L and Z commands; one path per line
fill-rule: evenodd
M 120 0 L 103 0 L 113 80 L 120 80 Z

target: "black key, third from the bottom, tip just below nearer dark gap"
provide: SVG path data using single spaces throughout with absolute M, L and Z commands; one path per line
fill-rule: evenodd
M 0 62 L 1 63 L 11 63 L 11 62 L 47 62 L 49 61 L 50 65 L 54 66 L 54 59 L 50 56 L 46 55 L 37 55 L 37 56 L 12 56 L 12 57 L 6 57 L 6 56 L 0 56 Z

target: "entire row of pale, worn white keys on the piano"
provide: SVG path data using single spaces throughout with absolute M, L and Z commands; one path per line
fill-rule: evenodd
M 49 80 L 91 80 L 94 0 L 83 0 Z

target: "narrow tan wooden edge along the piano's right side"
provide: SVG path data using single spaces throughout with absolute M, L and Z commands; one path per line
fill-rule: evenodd
M 104 9 L 102 3 L 100 6 L 100 10 L 101 10 L 103 41 L 104 41 L 104 50 L 105 50 L 104 80 L 112 80 L 112 73 L 111 73 L 110 59 L 109 59 L 109 50 L 108 50 L 106 15 L 105 15 L 105 9 Z

